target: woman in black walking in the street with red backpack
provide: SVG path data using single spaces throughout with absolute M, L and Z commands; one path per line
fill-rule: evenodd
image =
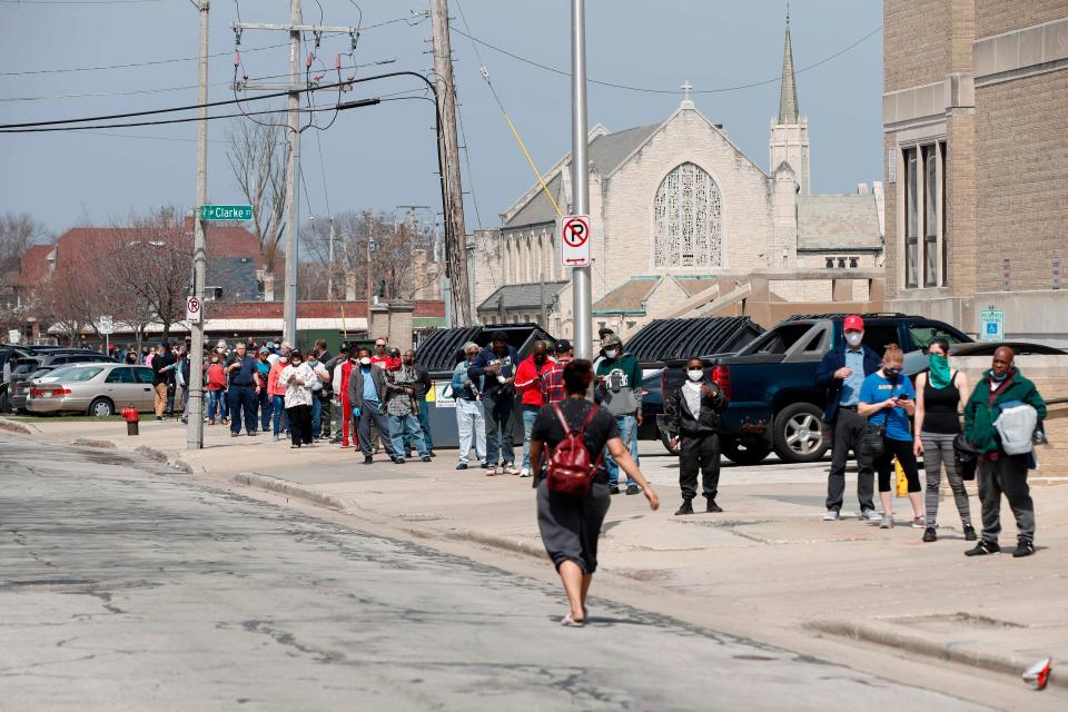
M 586 594 L 597 568 L 597 540 L 609 511 L 609 474 L 602 453 L 607 447 L 619 466 L 642 487 L 649 506 L 655 511 L 660 500 L 645 481 L 615 424 L 615 417 L 586 400 L 593 383 L 593 365 L 585 359 L 570 362 L 564 367 L 564 400 L 544 406 L 531 428 L 531 467 L 537 490 L 537 528 L 545 551 L 556 566 L 564 584 L 571 612 L 561 621 L 564 625 L 582 626 L 586 620 Z M 558 408 L 558 411 L 557 411 Z M 552 458 L 556 446 L 567 432 L 582 431 L 590 462 L 593 463 L 592 486 L 582 496 L 551 491 L 543 461 Z

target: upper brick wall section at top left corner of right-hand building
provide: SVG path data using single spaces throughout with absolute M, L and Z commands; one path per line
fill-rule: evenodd
M 886 0 L 883 91 L 940 81 L 950 70 L 951 0 Z

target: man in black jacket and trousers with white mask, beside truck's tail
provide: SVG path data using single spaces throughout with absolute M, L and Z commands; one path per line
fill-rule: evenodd
M 705 512 L 722 512 L 715 503 L 720 484 L 720 413 L 728 406 L 719 385 L 704 373 L 704 362 L 686 362 L 686 380 L 672 390 L 664 402 L 668 427 L 678 433 L 672 439 L 679 449 L 679 486 L 682 506 L 676 516 L 693 514 L 693 498 L 698 496 L 698 468 L 701 469 L 701 494 L 706 501 Z

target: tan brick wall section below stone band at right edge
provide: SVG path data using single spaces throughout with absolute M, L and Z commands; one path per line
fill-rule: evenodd
M 979 245 L 997 255 L 979 260 L 980 290 L 1000 289 L 1002 251 L 1013 290 L 1049 289 L 1054 253 L 1068 263 L 1068 70 L 981 87 L 976 103 Z

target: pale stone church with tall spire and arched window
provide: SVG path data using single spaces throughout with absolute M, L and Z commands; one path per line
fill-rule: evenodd
M 768 170 L 696 109 L 689 82 L 682 89 L 678 109 L 659 123 L 590 131 L 595 326 L 625 338 L 695 296 L 723 296 L 724 284 L 754 270 L 881 266 L 882 185 L 811 194 L 789 19 Z M 468 241 L 472 296 L 483 324 L 538 322 L 567 336 L 571 270 L 561 265 L 557 220 L 572 206 L 570 154 L 543 181 L 502 212 L 500 228 Z M 830 281 L 779 279 L 771 298 L 829 303 L 831 290 Z

